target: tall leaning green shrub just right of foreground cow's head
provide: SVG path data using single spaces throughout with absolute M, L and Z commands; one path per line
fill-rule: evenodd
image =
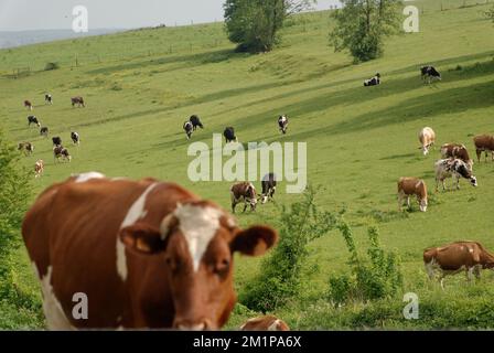
M 318 210 L 312 189 L 303 196 L 301 202 L 281 207 L 278 221 L 280 242 L 262 260 L 262 271 L 239 295 L 239 301 L 251 310 L 272 311 L 297 297 L 309 243 L 337 224 L 335 215 Z

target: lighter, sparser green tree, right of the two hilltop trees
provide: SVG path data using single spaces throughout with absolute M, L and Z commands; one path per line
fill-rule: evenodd
M 332 13 L 335 28 L 330 44 L 336 52 L 348 50 L 355 63 L 379 57 L 384 38 L 399 30 L 399 0 L 341 0 Z

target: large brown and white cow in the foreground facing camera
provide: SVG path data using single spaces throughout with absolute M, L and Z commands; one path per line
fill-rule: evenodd
M 45 190 L 22 235 L 51 330 L 217 330 L 236 302 L 234 254 L 278 239 L 176 184 L 99 173 Z M 72 314 L 75 293 L 88 298 L 85 320 Z

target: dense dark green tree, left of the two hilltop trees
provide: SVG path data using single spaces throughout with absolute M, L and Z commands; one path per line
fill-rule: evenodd
M 310 8 L 315 0 L 226 0 L 228 39 L 243 52 L 269 52 L 278 42 L 287 17 Z

